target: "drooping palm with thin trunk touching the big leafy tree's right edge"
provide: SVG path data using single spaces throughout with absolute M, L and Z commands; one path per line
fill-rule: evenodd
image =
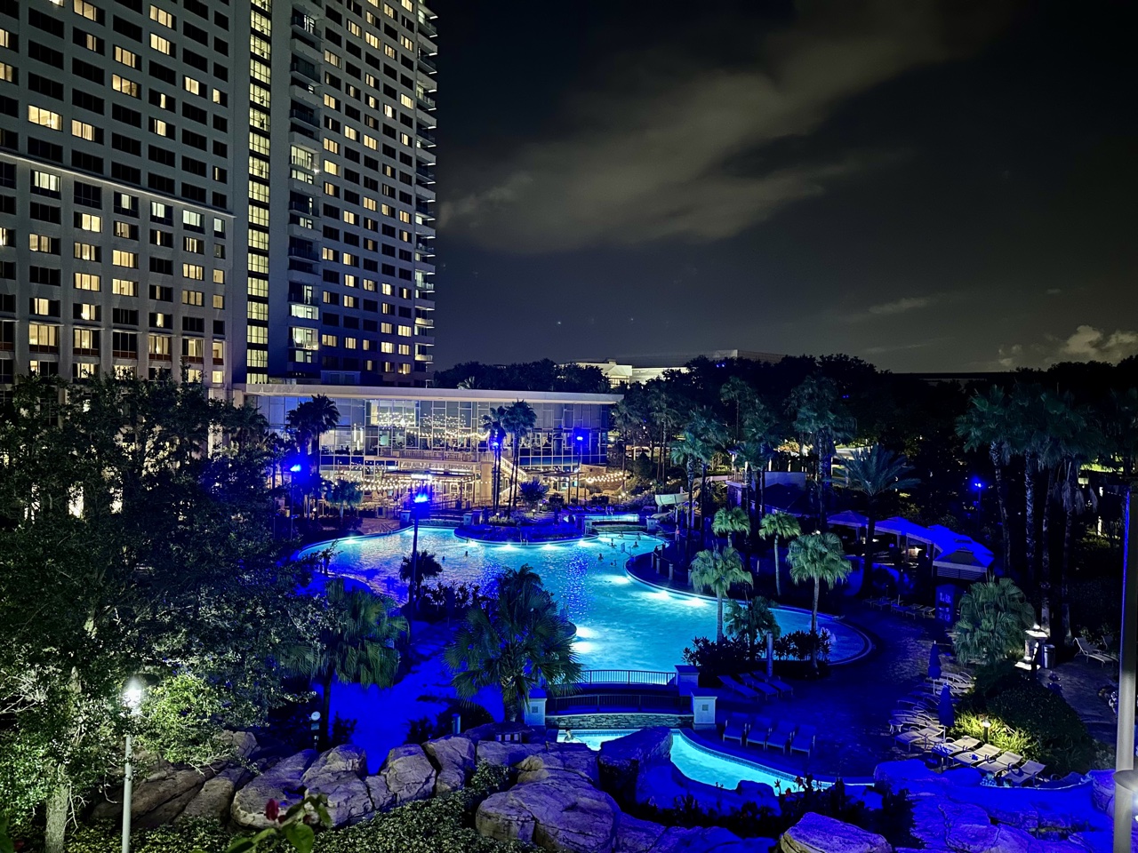
M 386 595 L 366 589 L 345 589 L 343 578 L 324 588 L 323 612 L 311 644 L 284 649 L 287 669 L 321 686 L 321 748 L 328 748 L 332 723 L 332 682 L 390 687 L 399 666 L 395 641 L 407 630 L 407 621 Z

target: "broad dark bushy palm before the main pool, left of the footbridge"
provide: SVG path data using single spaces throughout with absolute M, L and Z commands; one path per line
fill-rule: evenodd
M 495 596 L 467 612 L 443 660 L 460 697 L 500 688 L 508 720 L 521 718 L 534 687 L 568 689 L 582 673 L 569 622 L 528 565 L 498 577 Z

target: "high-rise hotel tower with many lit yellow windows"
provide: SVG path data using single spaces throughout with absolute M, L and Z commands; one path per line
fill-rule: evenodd
M 0 0 L 0 394 L 32 372 L 424 384 L 434 17 Z

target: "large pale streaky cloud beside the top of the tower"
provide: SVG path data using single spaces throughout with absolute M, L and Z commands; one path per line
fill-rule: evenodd
M 996 0 L 953 3 L 953 15 L 934 0 L 805 7 L 790 27 L 756 36 L 754 64 L 708 67 L 671 43 L 618 58 L 604 86 L 568 99 L 563 133 L 457 175 L 465 190 L 443 202 L 440 226 L 517 252 L 731 238 L 893 154 L 773 148 L 808 138 L 874 86 L 973 50 L 1008 9 Z M 970 8 L 980 14 L 960 26 Z

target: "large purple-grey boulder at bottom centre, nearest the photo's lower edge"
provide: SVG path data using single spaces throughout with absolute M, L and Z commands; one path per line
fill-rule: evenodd
M 478 806 L 475 826 L 486 837 L 542 850 L 610 853 L 619 814 L 608 794 L 566 775 L 492 794 Z

